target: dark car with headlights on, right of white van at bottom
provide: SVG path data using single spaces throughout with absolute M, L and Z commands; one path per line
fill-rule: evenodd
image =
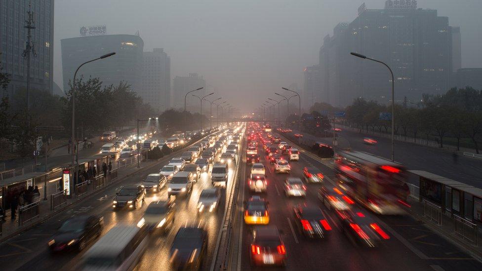
M 169 259 L 174 270 L 200 270 L 206 257 L 207 232 L 199 227 L 181 227 L 172 241 Z

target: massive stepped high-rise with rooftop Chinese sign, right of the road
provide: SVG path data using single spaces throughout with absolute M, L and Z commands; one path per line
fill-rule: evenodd
M 379 63 L 350 55 L 358 52 L 387 63 L 395 76 L 395 100 L 419 100 L 450 87 L 452 36 L 447 17 L 417 9 L 416 0 L 387 0 L 384 9 L 359 8 L 351 23 L 340 23 L 320 49 L 321 96 L 335 106 L 363 97 L 388 103 L 391 77 Z

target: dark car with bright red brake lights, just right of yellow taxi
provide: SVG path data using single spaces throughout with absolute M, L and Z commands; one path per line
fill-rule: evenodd
M 327 237 L 332 230 L 319 207 L 298 205 L 293 212 L 298 230 L 308 239 Z

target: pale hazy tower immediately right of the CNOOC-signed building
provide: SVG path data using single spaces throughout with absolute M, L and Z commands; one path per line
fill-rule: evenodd
M 158 112 L 170 107 L 171 58 L 163 48 L 143 53 L 142 85 L 137 94 Z

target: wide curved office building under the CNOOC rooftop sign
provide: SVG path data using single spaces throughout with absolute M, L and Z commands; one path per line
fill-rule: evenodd
M 124 81 L 134 91 L 140 88 L 144 41 L 139 36 L 104 35 L 62 39 L 61 46 L 64 91 L 69 89 L 69 80 L 74 79 L 80 64 L 110 52 L 116 52 L 116 55 L 82 66 L 77 77 L 99 77 L 106 86 L 117 86 Z

